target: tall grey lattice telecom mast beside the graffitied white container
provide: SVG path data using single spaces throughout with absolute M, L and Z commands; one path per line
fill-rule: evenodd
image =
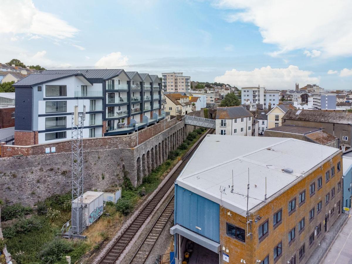
M 72 209 L 71 225 L 74 235 L 79 235 L 86 228 L 83 212 L 83 126 L 86 119 L 86 106 L 83 113 L 78 112 L 78 105 L 74 106 L 72 115 Z

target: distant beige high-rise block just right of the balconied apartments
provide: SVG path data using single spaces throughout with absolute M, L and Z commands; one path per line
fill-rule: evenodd
M 162 73 L 163 91 L 189 93 L 191 91 L 191 77 L 183 73 Z

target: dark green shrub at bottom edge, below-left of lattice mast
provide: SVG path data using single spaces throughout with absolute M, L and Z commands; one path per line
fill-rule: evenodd
M 62 238 L 54 239 L 44 245 L 43 250 L 39 252 L 39 258 L 42 259 L 44 263 L 56 263 L 65 253 L 72 250 L 73 247 L 69 241 Z

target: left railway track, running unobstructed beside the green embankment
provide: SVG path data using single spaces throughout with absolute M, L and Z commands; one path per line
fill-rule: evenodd
M 138 232 L 140 226 L 144 223 L 144 221 L 148 218 L 150 213 L 154 210 L 154 208 L 158 205 L 158 203 L 162 200 L 167 191 L 174 184 L 178 175 L 186 166 L 189 159 L 192 157 L 193 153 L 199 147 L 202 140 L 207 136 L 207 134 L 214 133 L 214 129 L 208 130 L 199 140 L 199 142 L 195 145 L 195 147 L 187 154 L 187 156 L 183 159 L 182 163 L 178 166 L 175 172 L 168 178 L 165 184 L 158 190 L 158 192 L 153 196 L 153 198 L 146 204 L 146 206 L 140 211 L 137 215 L 136 219 L 132 221 L 132 223 L 126 228 L 126 230 L 121 234 L 121 236 L 115 241 L 114 245 L 111 249 L 104 255 L 104 257 L 98 262 L 99 264 L 112 264 L 114 263 L 122 251 L 124 251 L 125 247 L 130 243 L 134 235 Z

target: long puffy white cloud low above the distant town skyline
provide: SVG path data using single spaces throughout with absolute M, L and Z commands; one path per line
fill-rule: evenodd
M 226 71 L 224 75 L 215 77 L 215 82 L 229 83 L 237 87 L 265 86 L 268 89 L 293 89 L 294 83 L 318 84 L 320 77 L 313 77 L 312 71 L 300 70 L 297 66 L 287 68 L 271 68 L 270 66 L 255 68 L 252 71 L 236 69 Z

